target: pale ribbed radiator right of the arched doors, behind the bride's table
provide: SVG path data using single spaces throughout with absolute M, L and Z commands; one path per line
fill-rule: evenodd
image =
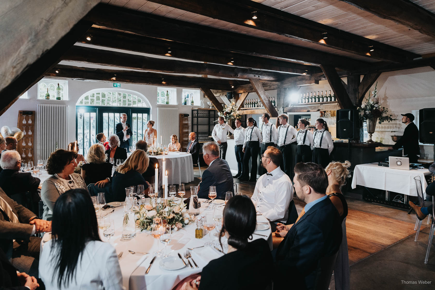
M 178 108 L 157 108 L 157 142 L 160 143 L 160 136 L 163 137 L 163 146 L 167 147 L 167 144 L 171 142 L 171 136 L 177 135 L 180 138 L 180 115 L 178 114 Z

